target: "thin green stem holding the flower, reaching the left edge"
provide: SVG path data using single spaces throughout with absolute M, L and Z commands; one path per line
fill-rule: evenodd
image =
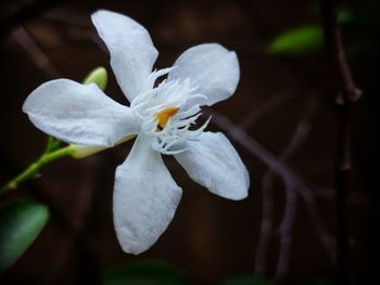
M 73 150 L 73 146 L 68 145 L 66 147 L 59 148 L 54 152 L 42 154 L 37 159 L 37 161 L 29 165 L 23 172 L 21 172 L 14 179 L 12 179 L 10 182 L 8 182 L 4 186 L 2 186 L 0 189 L 0 195 L 4 194 L 11 190 L 15 190 L 15 189 L 17 189 L 18 185 L 23 184 L 25 181 L 35 178 L 38 174 L 39 170 L 45 165 L 47 165 L 51 161 L 54 161 L 61 157 L 69 155 L 72 150 Z

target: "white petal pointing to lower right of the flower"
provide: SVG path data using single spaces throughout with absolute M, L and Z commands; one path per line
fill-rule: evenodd
M 203 132 L 175 155 L 188 174 L 210 192 L 229 199 L 248 196 L 250 176 L 239 154 L 220 132 Z

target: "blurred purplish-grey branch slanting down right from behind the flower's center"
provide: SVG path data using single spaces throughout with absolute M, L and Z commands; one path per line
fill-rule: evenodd
M 273 171 L 282 179 L 284 185 L 288 189 L 294 191 L 304 199 L 304 202 L 306 203 L 308 213 L 320 238 L 320 242 L 325 247 L 326 252 L 329 255 L 330 259 L 333 260 L 333 238 L 327 231 L 325 223 L 319 215 L 319 211 L 316 208 L 314 192 L 307 186 L 305 181 L 297 174 L 295 174 L 287 165 L 284 165 L 266 148 L 264 148 L 258 142 L 251 138 L 243 129 L 235 125 L 224 115 L 211 108 L 205 108 L 204 115 L 213 116 L 212 121 L 218 128 L 224 130 L 231 139 L 233 139 L 240 145 L 242 145 L 245 148 L 245 151 L 258 157 L 265 165 L 269 167 L 270 171 Z

